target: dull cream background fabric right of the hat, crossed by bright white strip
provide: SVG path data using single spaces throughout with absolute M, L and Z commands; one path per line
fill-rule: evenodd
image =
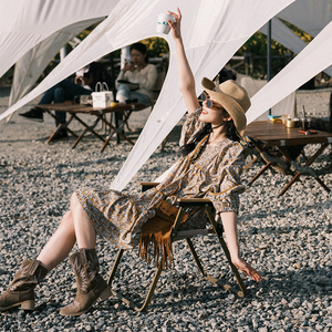
M 266 80 L 255 80 L 250 76 L 242 75 L 242 74 L 237 74 L 237 82 L 238 84 L 240 84 L 247 90 L 250 98 L 267 84 Z M 290 95 L 284 97 L 282 101 L 280 101 L 271 108 L 271 114 L 272 115 L 289 114 L 293 117 L 295 114 L 294 105 L 295 105 L 295 92 L 292 92 Z M 268 115 L 269 115 L 269 111 L 258 116 L 256 121 L 268 120 Z

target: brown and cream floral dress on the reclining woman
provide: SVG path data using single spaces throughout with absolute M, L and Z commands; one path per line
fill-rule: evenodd
M 198 120 L 200 108 L 187 116 L 180 145 L 190 142 L 193 135 L 204 127 L 205 123 Z M 138 245 L 141 227 L 155 216 L 160 199 L 176 205 L 177 197 L 205 197 L 211 200 L 218 214 L 237 212 L 238 195 L 245 190 L 240 184 L 242 152 L 240 143 L 228 138 L 211 146 L 200 144 L 188 156 L 180 157 L 156 188 L 138 195 L 126 195 L 107 188 L 82 188 L 76 190 L 76 195 L 96 234 L 118 248 L 131 249 Z M 200 210 L 180 227 L 201 228 L 206 221 Z

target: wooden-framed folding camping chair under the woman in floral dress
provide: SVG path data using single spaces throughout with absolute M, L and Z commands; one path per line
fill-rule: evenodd
M 154 187 L 156 185 L 158 185 L 158 183 L 141 183 L 142 185 L 142 190 L 147 190 L 148 188 L 151 187 Z M 190 252 L 193 255 L 193 258 L 197 264 L 197 268 L 198 270 L 200 271 L 200 273 L 209 281 L 211 281 L 212 283 L 215 283 L 216 286 L 219 286 L 219 287 L 224 287 L 226 290 L 230 291 L 231 293 L 234 294 L 237 294 L 238 297 L 245 297 L 246 293 L 247 293 L 247 290 L 246 290 L 246 287 L 243 284 L 243 281 L 238 272 L 238 269 L 232 264 L 231 262 L 231 259 L 230 259 L 230 253 L 228 251 L 228 247 L 222 238 L 222 226 L 221 225 L 217 225 L 217 222 L 215 221 L 215 216 L 214 216 L 214 212 L 211 210 L 211 203 L 206 199 L 206 198 L 180 198 L 178 199 L 178 203 L 179 203 L 179 210 L 178 210 L 178 214 L 177 214 L 177 217 L 176 217 L 176 220 L 173 225 L 173 231 L 172 231 L 172 235 L 170 235 L 170 241 L 172 243 L 175 242 L 175 241 L 178 241 L 178 240 L 181 240 L 181 239 L 186 239 L 187 241 L 187 245 L 190 249 Z M 208 217 L 208 220 L 211 225 L 211 228 L 205 228 L 205 229 L 191 229 L 191 230 L 178 230 L 178 226 L 179 226 L 179 221 L 181 220 L 181 216 L 184 214 L 184 208 L 186 207 L 203 207 L 207 214 L 207 217 Z M 191 241 L 191 238 L 195 237 L 195 236 L 207 236 L 209 234 L 214 234 L 215 236 L 217 236 L 220 245 L 221 245 L 221 248 L 226 255 L 226 258 L 229 262 L 229 266 L 231 268 L 231 271 L 237 280 L 237 283 L 239 286 L 239 290 L 231 287 L 230 284 L 228 284 L 225 280 L 221 280 L 221 279 L 216 279 L 215 277 L 212 276 L 209 276 L 207 272 L 205 272 L 204 268 L 203 268 L 203 264 L 199 260 L 199 257 L 194 248 L 194 245 L 193 245 L 193 241 Z M 112 289 L 112 282 L 113 280 L 115 279 L 115 274 L 116 274 L 116 270 L 118 268 L 118 264 L 122 260 L 122 257 L 123 257 L 123 253 L 124 253 L 124 249 L 120 249 L 118 250 L 118 253 L 117 253 L 117 257 L 113 263 L 113 267 L 111 269 L 111 274 L 110 274 L 110 278 L 108 278 L 108 284 Z M 152 297 L 154 294 L 154 291 L 155 291 L 155 288 L 157 286 L 157 282 L 158 282 L 158 279 L 160 277 L 160 273 L 163 271 L 163 263 L 160 262 L 159 266 L 157 267 L 156 269 L 156 272 L 155 272 L 155 276 L 154 276 L 154 279 L 152 280 L 152 283 L 149 286 L 149 290 L 147 292 L 147 295 L 143 302 L 143 304 L 136 304 L 135 302 L 126 299 L 125 297 L 123 297 L 120 292 L 116 292 L 114 289 L 112 290 L 113 294 L 118 298 L 120 300 L 122 300 L 125 304 L 129 305 L 131 308 L 135 309 L 136 311 L 144 311 L 147 309 L 151 300 L 152 300 Z

